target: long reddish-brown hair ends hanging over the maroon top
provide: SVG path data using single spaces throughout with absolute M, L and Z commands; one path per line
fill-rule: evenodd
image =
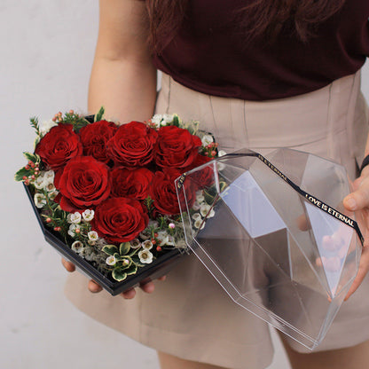
M 146 0 L 150 17 L 149 43 L 161 51 L 176 34 L 189 0 Z M 194 0 L 196 1 L 196 0 Z M 226 1 L 226 0 L 223 0 Z M 239 26 L 247 39 L 274 39 L 288 27 L 306 42 L 315 27 L 338 12 L 345 0 L 252 0 L 238 11 Z

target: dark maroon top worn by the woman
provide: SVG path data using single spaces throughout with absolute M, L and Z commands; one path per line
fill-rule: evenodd
M 190 0 L 176 37 L 154 55 L 177 82 L 210 95 L 266 100 L 318 90 L 355 73 L 369 55 L 369 0 L 347 0 L 302 43 L 287 32 L 275 43 L 247 43 L 234 12 L 245 0 Z

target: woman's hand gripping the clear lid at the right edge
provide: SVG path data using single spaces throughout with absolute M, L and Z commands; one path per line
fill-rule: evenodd
M 363 232 L 365 242 L 358 266 L 357 277 L 349 288 L 345 301 L 357 290 L 357 287 L 360 286 L 366 273 L 369 271 L 369 167 L 363 169 L 361 176 L 357 178 L 353 186 L 354 192 L 349 193 L 343 199 L 343 206 L 349 211 L 360 212 L 363 215 L 364 224 L 361 227 L 361 232 Z

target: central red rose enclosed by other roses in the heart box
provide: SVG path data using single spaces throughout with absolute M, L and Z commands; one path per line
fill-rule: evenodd
M 153 172 L 149 169 L 114 168 L 110 172 L 111 196 L 145 200 L 152 181 Z

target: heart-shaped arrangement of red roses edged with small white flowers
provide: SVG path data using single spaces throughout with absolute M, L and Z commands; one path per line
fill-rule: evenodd
M 15 179 L 33 193 L 44 224 L 98 271 L 122 281 L 173 247 L 185 247 L 174 181 L 218 154 L 198 122 L 154 115 L 118 125 L 69 111 L 35 129 L 35 152 Z M 197 178 L 212 185 L 211 170 Z M 199 187 L 200 188 L 200 187 Z M 194 226 L 212 216 L 195 185 L 185 193 Z

